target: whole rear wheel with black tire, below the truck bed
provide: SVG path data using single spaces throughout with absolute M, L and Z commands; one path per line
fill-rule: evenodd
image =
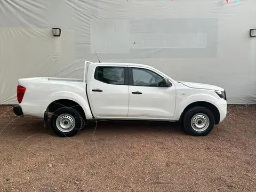
M 66 115 L 64 115 L 66 114 Z M 58 118 L 59 117 L 59 118 Z M 63 119 L 63 123 L 68 122 L 70 125 L 70 130 L 63 128 L 60 124 L 61 118 Z M 67 120 L 65 120 L 67 119 Z M 59 122 L 59 125 L 57 125 L 57 122 Z M 62 124 L 63 124 L 62 123 Z M 81 130 L 83 125 L 83 119 L 82 116 L 79 114 L 79 112 L 74 108 L 68 108 L 68 107 L 61 107 L 54 111 L 51 117 L 51 125 L 54 133 L 59 135 L 60 137 L 72 137 L 75 134 Z M 72 128 L 73 127 L 73 128 Z M 64 131 L 62 131 L 62 130 Z

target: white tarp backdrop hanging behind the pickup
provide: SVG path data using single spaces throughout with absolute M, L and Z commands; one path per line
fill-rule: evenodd
M 0 104 L 17 103 L 21 77 L 82 78 L 94 51 L 256 104 L 256 0 L 0 1 Z

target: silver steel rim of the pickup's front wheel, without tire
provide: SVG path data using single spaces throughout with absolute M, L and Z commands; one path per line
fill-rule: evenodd
M 199 113 L 191 118 L 191 127 L 197 131 L 205 131 L 210 125 L 210 119 L 207 115 Z

